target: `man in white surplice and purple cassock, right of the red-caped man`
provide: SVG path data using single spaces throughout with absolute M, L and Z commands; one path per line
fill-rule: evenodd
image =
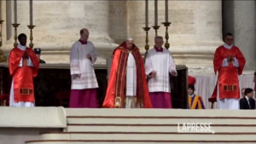
M 154 108 L 172 108 L 169 73 L 177 76 L 171 52 L 162 48 L 163 43 L 163 37 L 155 37 L 154 49 L 148 50 L 145 61 L 149 95 Z

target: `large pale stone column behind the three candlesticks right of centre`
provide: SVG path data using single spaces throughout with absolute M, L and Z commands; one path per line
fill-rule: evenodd
M 129 26 L 131 37 L 144 49 L 144 2 L 129 1 Z M 154 24 L 154 1 L 149 1 L 149 26 Z M 221 1 L 169 1 L 170 50 L 177 64 L 189 66 L 189 70 L 212 71 L 212 57 L 222 42 Z M 159 1 L 159 23 L 165 20 L 165 1 Z M 159 35 L 165 37 L 165 27 L 160 24 Z M 154 46 L 154 30 L 149 34 Z M 143 50 L 142 50 L 143 51 Z

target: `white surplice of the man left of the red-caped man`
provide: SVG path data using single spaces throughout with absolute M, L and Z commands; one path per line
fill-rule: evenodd
M 87 58 L 91 56 L 91 60 Z M 73 43 L 70 52 L 70 72 L 72 76 L 71 89 L 95 89 L 98 88 L 93 64 L 96 62 L 96 49 L 90 41 L 82 44 L 79 41 Z M 77 74 L 81 74 L 79 78 Z

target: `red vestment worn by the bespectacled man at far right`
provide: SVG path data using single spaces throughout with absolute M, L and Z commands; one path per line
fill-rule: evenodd
M 236 60 L 238 60 L 239 67 L 233 66 L 233 62 L 229 63 L 229 66 L 223 67 L 223 60 L 229 55 L 232 55 Z M 239 89 L 239 79 L 238 76 L 241 75 L 243 68 L 245 66 L 246 60 L 241 54 L 240 49 L 233 46 L 231 49 L 226 49 L 224 46 L 218 47 L 216 49 L 213 59 L 213 66 L 215 74 L 218 72 L 218 92 L 219 99 L 224 98 L 240 98 Z M 217 98 L 217 85 L 212 94 L 212 98 Z

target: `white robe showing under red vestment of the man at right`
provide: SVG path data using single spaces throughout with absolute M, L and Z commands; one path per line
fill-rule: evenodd
M 233 45 L 227 45 L 224 43 L 224 48 L 225 49 L 232 49 Z M 234 58 L 235 60 L 233 61 L 233 66 L 239 67 L 239 63 L 238 60 L 236 58 Z M 229 66 L 229 62 L 227 60 L 227 58 L 225 58 L 223 60 L 223 67 Z M 238 77 L 238 75 L 237 75 Z M 217 91 L 217 107 L 218 109 L 230 109 L 230 110 L 238 110 L 240 109 L 239 106 L 239 99 L 228 99 L 228 98 L 224 98 L 222 100 L 219 99 L 219 93 Z

